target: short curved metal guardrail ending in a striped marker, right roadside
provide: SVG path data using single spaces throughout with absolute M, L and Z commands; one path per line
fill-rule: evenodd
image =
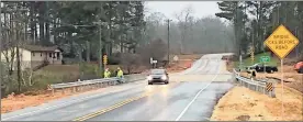
M 265 80 L 255 80 L 242 77 L 239 73 L 236 71 L 236 69 L 233 70 L 233 78 L 234 81 L 239 84 L 240 86 L 244 86 L 250 90 L 267 95 L 271 98 L 276 98 L 274 88 L 277 82 L 270 81 L 268 79 Z

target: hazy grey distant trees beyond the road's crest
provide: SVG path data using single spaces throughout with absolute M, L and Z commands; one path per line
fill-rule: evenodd
M 233 25 L 216 16 L 198 18 L 193 13 L 190 5 L 176 12 L 173 18 L 161 12 L 149 13 L 144 33 L 146 41 L 158 37 L 168 43 L 169 35 L 169 49 L 173 54 L 234 52 Z

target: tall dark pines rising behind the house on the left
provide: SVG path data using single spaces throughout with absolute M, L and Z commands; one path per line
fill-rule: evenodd
M 10 42 L 14 20 L 20 20 L 23 24 L 20 41 L 59 45 L 70 57 L 81 48 L 88 60 L 89 56 L 98 57 L 100 34 L 104 53 L 111 54 L 116 45 L 121 51 L 133 52 L 145 25 L 141 1 L 2 1 L 1 9 L 4 18 L 1 27 L 8 29 L 2 30 L 4 42 Z

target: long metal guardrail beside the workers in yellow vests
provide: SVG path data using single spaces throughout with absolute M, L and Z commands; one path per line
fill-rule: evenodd
M 119 80 L 123 82 L 132 82 L 137 80 L 144 80 L 146 79 L 145 75 L 125 75 L 124 78 L 102 78 L 102 79 L 92 79 L 92 80 L 79 80 L 74 82 L 66 82 L 66 84 L 55 84 L 49 85 L 48 90 L 52 90 L 52 93 L 56 92 L 57 90 L 61 90 L 65 92 L 66 89 L 71 90 L 71 92 L 77 92 L 81 90 L 89 90 L 94 88 L 102 88 L 106 86 L 114 86 L 119 84 Z

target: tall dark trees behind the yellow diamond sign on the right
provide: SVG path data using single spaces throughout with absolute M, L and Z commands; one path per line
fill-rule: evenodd
M 265 52 L 263 41 L 283 24 L 299 40 L 303 35 L 303 2 L 302 1 L 223 1 L 217 2 L 222 12 L 216 16 L 233 23 L 236 38 L 236 54 L 248 51 L 252 45 L 255 52 Z M 293 51 L 296 57 L 302 56 L 303 43 Z

